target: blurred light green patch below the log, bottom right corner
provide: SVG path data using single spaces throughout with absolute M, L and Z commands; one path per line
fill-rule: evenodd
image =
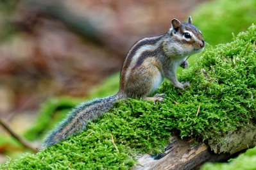
M 250 150 L 247 150 L 244 154 L 239 155 L 239 157 L 232 159 L 228 163 L 218 163 L 211 164 L 207 163 L 201 167 L 202 170 L 233 170 L 233 169 L 241 169 L 241 170 L 249 170 L 256 169 L 256 147 Z

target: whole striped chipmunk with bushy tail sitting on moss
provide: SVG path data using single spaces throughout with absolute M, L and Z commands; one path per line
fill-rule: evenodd
M 167 33 L 142 38 L 129 50 L 123 62 L 120 88 L 116 95 L 78 105 L 47 135 L 41 148 L 85 130 L 88 121 L 102 116 L 119 100 L 142 98 L 154 103 L 164 101 L 164 94 L 148 97 L 160 86 L 164 77 L 176 88 L 184 89 L 189 82 L 178 82 L 176 69 L 178 66 L 187 68 L 189 63 L 185 61 L 186 56 L 201 52 L 204 47 L 201 31 L 192 25 L 191 17 L 185 23 L 177 19 L 171 20 L 171 27 Z

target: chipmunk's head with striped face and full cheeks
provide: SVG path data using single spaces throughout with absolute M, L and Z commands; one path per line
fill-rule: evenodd
M 169 36 L 169 42 L 165 42 L 164 45 L 169 46 L 168 50 L 176 51 L 180 56 L 201 52 L 205 47 L 201 31 L 192 24 L 191 17 L 188 22 L 183 23 L 177 19 L 171 20 L 167 36 Z

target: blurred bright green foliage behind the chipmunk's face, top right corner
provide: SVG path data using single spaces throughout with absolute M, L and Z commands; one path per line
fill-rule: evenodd
M 191 14 L 206 42 L 211 45 L 227 43 L 235 35 L 245 31 L 252 22 L 256 24 L 255 0 L 216 0 L 200 4 Z

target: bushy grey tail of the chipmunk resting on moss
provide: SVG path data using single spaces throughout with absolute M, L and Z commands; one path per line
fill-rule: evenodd
M 40 148 L 46 148 L 56 144 L 70 135 L 77 134 L 81 130 L 85 130 L 87 122 L 95 120 L 107 112 L 118 100 L 123 99 L 121 95 L 96 98 L 89 103 L 78 105 L 71 113 L 60 122 L 44 139 L 44 143 Z

